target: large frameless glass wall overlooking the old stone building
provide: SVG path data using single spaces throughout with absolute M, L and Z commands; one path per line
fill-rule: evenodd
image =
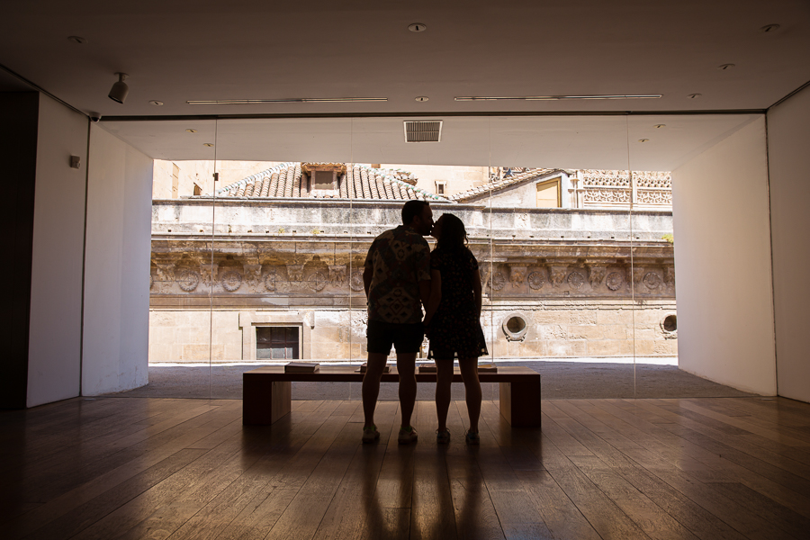
M 365 362 L 365 254 L 411 198 L 467 226 L 482 363 L 536 369 L 547 399 L 632 398 L 657 383 L 648 366 L 677 365 L 670 171 L 746 119 L 450 117 L 408 143 L 410 120 L 119 126 L 157 157 L 150 386 L 238 398 L 259 365 Z M 175 146 L 148 149 L 149 130 Z

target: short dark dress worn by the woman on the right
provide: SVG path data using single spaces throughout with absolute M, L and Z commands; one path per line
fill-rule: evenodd
M 430 321 L 428 358 L 488 355 L 473 294 L 478 269 L 473 253 L 466 247 L 454 252 L 438 247 L 430 254 L 430 269 L 438 270 L 442 276 L 442 300 Z

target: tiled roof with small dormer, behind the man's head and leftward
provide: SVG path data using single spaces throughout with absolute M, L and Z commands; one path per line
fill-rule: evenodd
M 311 164 L 317 165 L 317 164 Z M 331 164 L 334 165 L 334 164 Z M 303 179 L 303 182 L 302 182 Z M 338 177 L 337 190 L 312 190 L 308 192 L 302 164 L 282 163 L 255 175 L 247 176 L 234 184 L 217 190 L 217 197 L 284 198 L 284 199 L 365 199 L 409 200 L 420 199 L 434 202 L 450 202 L 445 197 L 416 187 L 416 178 L 394 169 L 372 168 L 365 165 L 347 164 L 346 174 Z

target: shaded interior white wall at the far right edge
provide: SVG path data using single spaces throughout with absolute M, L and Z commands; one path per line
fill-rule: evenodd
M 779 395 L 810 401 L 810 88 L 768 112 L 773 293 Z

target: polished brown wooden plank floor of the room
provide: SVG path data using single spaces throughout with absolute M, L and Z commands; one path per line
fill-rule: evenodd
M 0 413 L 0 537 L 810 537 L 810 405 L 784 399 L 544 401 L 543 428 L 484 404 L 482 444 L 361 445 L 358 401 L 76 399 Z

